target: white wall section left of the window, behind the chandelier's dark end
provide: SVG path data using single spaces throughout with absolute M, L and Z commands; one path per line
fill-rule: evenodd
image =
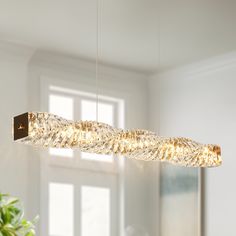
M 0 43 L 0 192 L 20 197 L 26 212 L 28 193 L 27 148 L 13 144 L 12 117 L 28 109 L 27 70 L 32 50 Z

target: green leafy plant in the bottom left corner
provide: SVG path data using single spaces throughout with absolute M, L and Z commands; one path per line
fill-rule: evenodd
M 35 236 L 35 223 L 24 219 L 20 200 L 0 193 L 0 236 Z

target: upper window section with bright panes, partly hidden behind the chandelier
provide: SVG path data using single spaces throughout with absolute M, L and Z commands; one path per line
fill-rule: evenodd
M 101 98 L 98 105 L 98 121 L 111 126 L 119 126 L 117 111 L 119 100 L 114 98 Z M 84 93 L 75 90 L 63 90 L 63 88 L 51 86 L 48 93 L 48 111 L 55 115 L 69 120 L 96 120 L 96 96 L 95 94 Z M 79 153 L 78 150 L 51 148 L 49 154 L 54 164 L 80 166 L 80 168 L 90 169 L 96 164 L 91 162 L 106 162 L 112 165 L 104 165 L 107 171 L 114 171 L 116 164 L 109 155 L 96 155 L 91 153 Z M 60 159 L 58 157 L 61 157 Z M 71 159 L 71 162 L 65 159 Z M 85 162 L 85 161 L 89 162 Z M 90 167 L 88 167 L 90 165 Z M 93 167 L 92 167 L 93 168 Z

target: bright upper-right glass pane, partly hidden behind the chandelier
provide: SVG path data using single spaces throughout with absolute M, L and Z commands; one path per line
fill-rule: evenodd
M 96 102 L 82 100 L 81 102 L 81 119 L 96 120 Z M 114 125 L 114 106 L 108 103 L 100 103 L 98 105 L 98 120 L 100 122 Z M 81 158 L 92 161 L 112 162 L 113 158 L 110 155 L 97 155 L 91 153 L 81 153 Z

